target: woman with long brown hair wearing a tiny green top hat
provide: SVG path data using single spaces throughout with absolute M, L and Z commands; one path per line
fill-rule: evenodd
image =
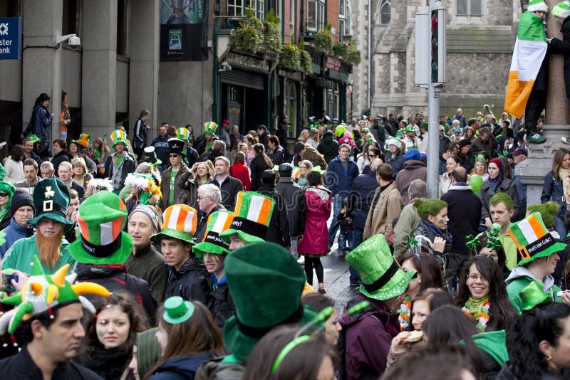
M 200 365 L 224 354 L 224 341 L 207 307 L 170 297 L 158 312 L 161 357 L 145 379 L 194 379 Z

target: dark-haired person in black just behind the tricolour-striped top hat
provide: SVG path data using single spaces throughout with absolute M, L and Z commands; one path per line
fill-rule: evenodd
M 287 204 L 283 194 L 275 189 L 275 178 L 275 171 L 273 170 L 266 170 L 261 173 L 261 187 L 257 191 L 259 194 L 271 196 L 271 198 L 275 199 L 273 215 L 271 215 L 271 222 L 269 222 L 269 228 L 267 228 L 264 240 L 289 248 L 291 243 L 289 241 Z

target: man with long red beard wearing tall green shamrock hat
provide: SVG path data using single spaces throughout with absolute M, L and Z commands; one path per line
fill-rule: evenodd
M 34 256 L 39 256 L 43 272 L 50 275 L 67 263 L 74 265 L 68 242 L 63 238 L 64 231 L 73 226 L 73 221 L 66 218 L 67 186 L 57 178 L 42 179 L 33 191 L 33 205 L 37 214 L 27 223 L 36 227 L 36 234 L 16 241 L 4 255 L 2 267 L 31 274 Z

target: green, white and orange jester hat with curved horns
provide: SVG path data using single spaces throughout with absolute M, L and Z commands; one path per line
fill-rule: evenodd
M 0 334 L 4 334 L 6 328 L 10 334 L 14 334 L 21 321 L 28 320 L 43 312 L 52 315 L 51 313 L 56 308 L 73 302 L 81 302 L 83 307 L 94 313 L 95 307 L 82 294 L 109 297 L 109 291 L 95 283 L 73 284 L 77 274 L 72 273 L 66 277 L 70 267 L 71 264 L 66 264 L 53 275 L 46 275 L 41 268 L 39 257 L 34 255 L 33 273 L 26 280 L 21 292 L 16 292 L 1 301 L 5 305 L 15 306 L 15 308 L 4 313 L 0 318 Z

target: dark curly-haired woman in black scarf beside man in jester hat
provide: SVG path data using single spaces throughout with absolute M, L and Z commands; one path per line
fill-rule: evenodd
M 148 329 L 146 314 L 129 292 L 112 292 L 109 298 L 93 302 L 95 314 L 86 314 L 86 336 L 78 350 L 77 361 L 103 379 L 121 379 L 137 333 Z

